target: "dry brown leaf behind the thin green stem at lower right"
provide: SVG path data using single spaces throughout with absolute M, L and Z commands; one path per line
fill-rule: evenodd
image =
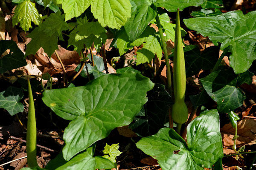
M 256 144 L 256 119 L 242 119 L 237 122 L 237 135 L 239 138 L 236 140 L 236 146 L 241 147 L 245 144 Z M 235 153 L 232 150 L 233 136 L 235 135 L 235 129 L 231 123 L 224 125 L 221 128 L 221 135 L 224 147 L 224 153 L 230 154 Z

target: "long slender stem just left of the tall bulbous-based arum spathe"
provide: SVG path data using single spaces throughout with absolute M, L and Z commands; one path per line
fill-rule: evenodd
M 170 64 L 169 64 L 169 58 L 168 58 L 168 53 L 167 53 L 167 48 L 166 48 L 166 42 L 163 37 L 163 29 L 158 17 L 158 14 L 156 16 L 156 21 L 157 21 L 157 27 L 159 30 L 160 38 L 161 38 L 161 43 L 162 43 L 162 48 L 163 48 L 163 55 L 164 59 L 166 61 L 166 72 L 167 72 L 167 82 L 168 82 L 168 92 L 170 96 L 172 96 L 172 77 L 171 77 L 171 69 L 170 69 Z

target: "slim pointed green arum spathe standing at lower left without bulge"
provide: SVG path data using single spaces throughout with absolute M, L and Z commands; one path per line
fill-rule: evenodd
M 36 122 L 35 122 L 35 105 L 32 95 L 32 89 L 28 78 L 28 91 L 29 91 L 29 113 L 28 125 L 26 134 L 26 153 L 29 167 L 38 167 L 36 161 Z

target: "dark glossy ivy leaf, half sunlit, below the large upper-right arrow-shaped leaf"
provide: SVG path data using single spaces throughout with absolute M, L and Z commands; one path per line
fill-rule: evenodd
M 207 94 L 218 104 L 220 113 L 233 111 L 243 104 L 246 98 L 237 86 L 252 83 L 253 74 L 249 71 L 236 75 L 233 69 L 215 71 L 200 79 Z

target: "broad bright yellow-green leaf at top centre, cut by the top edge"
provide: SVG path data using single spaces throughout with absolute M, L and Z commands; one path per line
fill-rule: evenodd
M 121 28 L 131 17 L 129 0 L 91 0 L 91 11 L 102 27 Z

